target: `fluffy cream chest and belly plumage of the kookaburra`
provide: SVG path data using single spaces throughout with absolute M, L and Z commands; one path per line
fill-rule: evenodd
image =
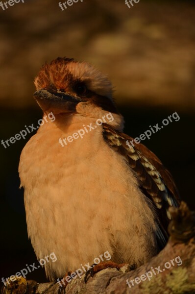
M 21 185 L 28 235 L 50 279 L 109 251 L 115 262 L 145 262 L 155 249 L 154 213 L 122 156 L 103 141 L 102 130 L 62 147 L 74 129 L 40 129 L 24 147 Z M 149 234 L 148 234 L 149 232 Z

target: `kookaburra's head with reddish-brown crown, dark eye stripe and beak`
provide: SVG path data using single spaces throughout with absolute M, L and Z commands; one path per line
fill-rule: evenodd
M 112 124 L 122 130 L 123 118 L 112 98 L 112 84 L 90 64 L 58 57 L 43 65 L 34 83 L 34 98 L 44 113 L 100 119 L 111 112 Z

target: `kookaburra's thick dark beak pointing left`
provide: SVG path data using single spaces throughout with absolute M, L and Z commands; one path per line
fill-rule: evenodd
M 41 89 L 33 94 L 44 112 L 76 113 L 76 105 L 82 100 L 59 90 L 48 91 Z

